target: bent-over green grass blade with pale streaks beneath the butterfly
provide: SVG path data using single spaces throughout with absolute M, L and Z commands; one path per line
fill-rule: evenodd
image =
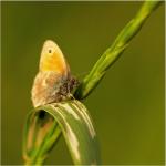
M 30 112 L 23 139 L 25 163 L 42 164 L 61 132 L 75 165 L 101 163 L 91 116 L 76 100 L 48 104 Z

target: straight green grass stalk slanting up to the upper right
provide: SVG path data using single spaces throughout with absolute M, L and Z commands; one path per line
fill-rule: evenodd
M 117 35 L 116 40 L 95 63 L 90 73 L 83 79 L 75 91 L 75 98 L 85 98 L 100 83 L 108 68 L 120 58 L 128 46 L 129 41 L 138 33 L 149 14 L 159 6 L 162 1 L 146 1 L 138 13 L 132 19 Z

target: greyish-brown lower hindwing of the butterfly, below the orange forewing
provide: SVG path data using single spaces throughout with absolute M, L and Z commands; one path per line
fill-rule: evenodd
M 60 90 L 64 82 L 63 77 L 55 72 L 39 72 L 31 92 L 34 107 L 61 101 Z

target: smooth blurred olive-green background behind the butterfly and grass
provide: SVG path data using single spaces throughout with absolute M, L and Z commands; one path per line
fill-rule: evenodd
M 22 164 L 22 129 L 43 42 L 54 40 L 82 79 L 142 2 L 1 3 L 2 164 Z M 164 25 L 160 6 L 84 101 L 103 164 L 164 164 Z M 72 164 L 62 137 L 46 164 Z

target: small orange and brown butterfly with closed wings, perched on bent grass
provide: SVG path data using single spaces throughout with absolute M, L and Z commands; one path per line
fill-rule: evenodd
M 33 106 L 69 98 L 77 83 L 77 80 L 71 75 L 70 66 L 59 45 L 52 40 L 46 40 L 31 91 Z

